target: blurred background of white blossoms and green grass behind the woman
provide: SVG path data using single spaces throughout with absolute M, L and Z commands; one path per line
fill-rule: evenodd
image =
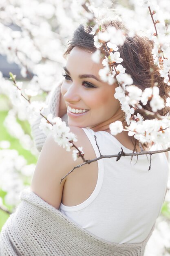
M 138 2 L 138 3 L 137 3 Z M 124 20 L 131 35 L 154 32 L 147 7 L 135 0 L 86 1 L 100 17 Z M 143 1 L 144 2 L 144 1 Z M 169 0 L 155 0 L 159 19 L 170 24 Z M 20 99 L 9 72 L 16 75 L 22 94 L 42 102 L 62 78 L 66 43 L 80 23 L 91 19 L 85 0 L 0 1 L 0 230 L 19 203 L 19 193 L 29 186 L 39 152 L 31 135 L 36 109 Z M 158 8 L 158 7 L 157 7 Z M 168 189 L 170 181 L 168 182 Z M 170 192 L 145 256 L 170 255 Z

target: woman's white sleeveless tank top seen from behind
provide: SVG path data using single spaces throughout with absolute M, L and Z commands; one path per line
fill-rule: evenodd
M 108 132 L 82 128 L 95 150 L 97 137 L 102 155 L 113 155 L 125 148 Z M 152 150 L 160 148 L 152 146 Z M 161 149 L 161 148 L 160 148 Z M 76 206 L 60 204 L 59 210 L 94 235 L 114 243 L 141 243 L 159 216 L 167 189 L 168 160 L 165 153 L 150 157 L 104 158 L 98 160 L 98 179 L 90 197 Z M 137 161 L 137 162 L 136 162 Z

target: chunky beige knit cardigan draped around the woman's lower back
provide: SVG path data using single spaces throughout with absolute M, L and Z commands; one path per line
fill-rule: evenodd
M 0 234 L 0 256 L 143 256 L 142 243 L 108 242 L 72 222 L 32 191 L 21 202 Z

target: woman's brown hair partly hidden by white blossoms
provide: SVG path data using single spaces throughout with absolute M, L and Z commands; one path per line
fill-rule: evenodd
M 145 88 L 151 86 L 151 83 L 157 83 L 159 88 L 159 94 L 166 102 L 166 98 L 169 97 L 170 87 L 163 82 L 164 78 L 161 77 L 159 73 L 159 67 L 154 65 L 152 48 L 153 43 L 146 36 L 135 35 L 133 37 L 128 36 L 128 30 L 124 24 L 119 20 L 108 20 L 108 21 L 96 21 L 97 24 L 101 25 L 102 31 L 106 31 L 108 26 L 113 26 L 116 29 L 123 29 L 125 34 L 125 42 L 123 45 L 119 45 L 119 52 L 123 62 L 121 63 L 123 67 L 126 68 L 126 73 L 130 74 L 133 79 L 133 84 L 138 86 L 142 91 Z M 96 47 L 94 46 L 94 36 L 89 34 L 92 30 L 91 25 L 79 25 L 73 34 L 73 38 L 68 43 L 68 48 L 64 53 L 67 56 L 71 50 L 77 46 L 88 52 L 95 52 Z M 105 55 L 107 56 L 106 52 Z M 154 67 L 154 68 L 153 68 Z M 150 104 L 143 106 L 146 110 L 152 111 Z M 135 115 L 140 113 L 140 110 L 135 111 Z M 165 116 L 169 112 L 169 108 L 163 108 L 158 110 L 158 113 Z M 144 119 L 152 119 L 154 117 L 148 117 L 144 115 Z M 137 140 L 135 140 L 134 146 L 136 147 Z M 134 148 L 135 151 L 136 148 Z

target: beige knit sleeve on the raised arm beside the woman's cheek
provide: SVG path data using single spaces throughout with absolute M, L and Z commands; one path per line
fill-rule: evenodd
M 51 113 L 51 114 L 53 114 L 53 117 L 58 116 L 59 107 L 60 107 L 61 85 L 62 85 L 62 83 L 60 82 L 50 92 L 49 96 L 46 99 L 46 104 L 48 105 L 48 108 L 42 110 L 43 115 L 47 116 L 48 114 Z M 39 115 L 38 118 L 33 123 L 33 125 L 31 126 L 33 140 L 34 140 L 35 146 L 38 149 L 38 151 L 41 151 L 42 146 L 44 145 L 44 142 L 46 139 L 46 135 L 39 128 L 41 119 L 42 119 L 42 116 Z M 62 121 L 65 121 L 66 125 L 68 125 L 67 114 L 62 116 Z

